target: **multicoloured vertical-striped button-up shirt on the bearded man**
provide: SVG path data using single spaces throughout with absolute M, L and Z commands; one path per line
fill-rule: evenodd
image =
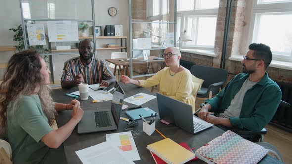
M 83 76 L 83 83 L 89 85 L 101 83 L 102 80 L 113 77 L 103 60 L 92 58 L 91 62 L 86 65 L 79 56 L 65 62 L 61 82 L 72 81 L 78 74 Z

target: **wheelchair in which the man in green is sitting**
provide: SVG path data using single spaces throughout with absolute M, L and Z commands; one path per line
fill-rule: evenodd
M 288 108 L 288 107 L 290 107 L 290 104 L 281 100 L 279 107 L 280 106 L 284 107 L 284 108 Z M 195 112 L 195 115 L 198 114 L 200 109 L 198 109 Z M 241 137 L 243 137 L 249 141 L 255 142 L 258 145 L 261 145 L 262 147 L 269 150 L 268 154 L 270 156 L 272 156 L 272 157 L 274 157 L 277 160 L 282 162 L 282 156 L 281 156 L 281 153 L 278 151 L 278 149 L 275 146 L 273 146 L 272 144 L 264 142 L 264 135 L 267 134 L 267 130 L 265 128 L 263 128 L 261 131 L 250 131 L 247 129 L 229 128 L 229 127 L 225 127 L 222 125 L 216 125 L 216 126 L 221 128 L 224 131 L 231 130 L 231 131 L 235 132 L 236 134 L 240 135 Z

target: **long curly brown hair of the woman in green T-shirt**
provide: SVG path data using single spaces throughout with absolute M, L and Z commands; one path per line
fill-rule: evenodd
M 9 60 L 3 82 L 0 84 L 0 133 L 5 132 L 9 103 L 17 104 L 22 95 L 38 94 L 49 125 L 53 124 L 55 104 L 50 96 L 49 86 L 42 85 L 40 59 L 38 52 L 26 50 L 14 54 Z M 11 110 L 16 106 L 14 105 Z

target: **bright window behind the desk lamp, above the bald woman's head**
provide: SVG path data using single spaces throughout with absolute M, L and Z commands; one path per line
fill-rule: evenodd
M 186 30 L 192 38 L 180 48 L 214 50 L 218 7 L 219 0 L 178 0 L 177 36 Z

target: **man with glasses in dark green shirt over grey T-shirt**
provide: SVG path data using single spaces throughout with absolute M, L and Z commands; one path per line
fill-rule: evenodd
M 273 118 L 282 98 L 279 86 L 268 77 L 270 47 L 250 44 L 243 73 L 233 77 L 214 98 L 207 99 L 198 116 L 214 125 L 262 130 Z M 215 115 L 209 115 L 209 111 Z

